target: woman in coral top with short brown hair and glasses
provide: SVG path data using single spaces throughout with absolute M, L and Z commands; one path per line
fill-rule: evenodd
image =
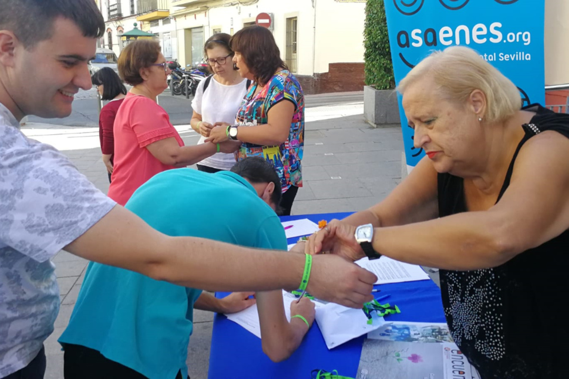
M 156 103 L 156 97 L 168 88 L 170 73 L 157 41 L 130 43 L 117 66 L 123 80 L 133 86 L 118 109 L 113 128 L 114 168 L 108 195 L 120 205 L 159 172 L 239 147 L 235 142 L 184 146 L 168 114 Z

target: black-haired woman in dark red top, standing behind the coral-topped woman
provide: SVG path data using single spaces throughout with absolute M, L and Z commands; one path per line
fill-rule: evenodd
M 97 86 L 101 99 L 109 101 L 102 107 L 99 114 L 99 139 L 101 141 L 102 159 L 109 174 L 110 183 L 110 174 L 113 173 L 114 118 L 117 116 L 118 107 L 121 106 L 122 101 L 125 99 L 126 88 L 117 73 L 109 67 L 104 67 L 94 73 L 91 77 L 91 82 L 94 86 Z

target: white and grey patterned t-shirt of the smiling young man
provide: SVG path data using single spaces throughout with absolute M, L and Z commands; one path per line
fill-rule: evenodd
M 27 366 L 53 331 L 50 258 L 115 205 L 67 157 L 24 136 L 0 103 L 0 378 Z

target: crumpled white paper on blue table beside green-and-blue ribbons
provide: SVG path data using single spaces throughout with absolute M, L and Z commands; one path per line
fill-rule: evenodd
M 383 317 L 374 317 L 373 324 L 361 309 L 328 303 L 316 309 L 316 322 L 328 349 L 376 330 L 385 323 Z

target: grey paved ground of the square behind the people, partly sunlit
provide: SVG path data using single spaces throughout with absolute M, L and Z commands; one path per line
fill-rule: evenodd
M 362 210 L 381 201 L 401 181 L 401 130 L 370 128 L 362 113 L 362 103 L 307 109 L 304 186 L 298 191 L 293 214 Z M 189 126 L 176 128 L 185 144 L 197 143 L 198 136 Z M 106 193 L 109 182 L 101 161 L 98 128 L 30 123 L 22 131 L 59 148 Z M 69 322 L 88 262 L 64 251 L 53 262 L 57 267 L 61 310 L 55 332 L 46 341 L 46 378 L 61 379 L 63 352 L 57 338 Z M 212 320 L 211 313 L 195 312 L 187 361 L 192 379 L 207 378 Z

